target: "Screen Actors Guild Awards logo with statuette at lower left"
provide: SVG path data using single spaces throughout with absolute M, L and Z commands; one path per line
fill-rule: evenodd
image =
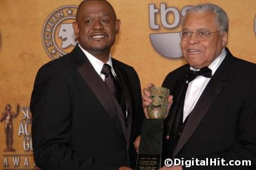
M 19 124 L 15 124 L 14 119 L 17 119 L 20 112 L 22 113 L 22 118 Z M 12 108 L 11 104 L 6 104 L 0 120 L 5 124 L 5 149 L 3 149 L 4 154 L 1 159 L 3 160 L 2 168 L 38 169 L 33 160 L 30 108 L 26 106 L 20 107 L 19 104 Z M 15 129 L 18 129 L 16 134 L 14 133 L 16 132 Z M 15 148 L 14 145 L 16 146 Z M 17 147 L 18 145 L 22 147 Z

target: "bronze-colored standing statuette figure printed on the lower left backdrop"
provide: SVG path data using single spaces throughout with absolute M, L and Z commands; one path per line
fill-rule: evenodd
M 11 111 L 11 105 L 6 104 L 5 112 L 2 113 L 0 121 L 5 120 L 5 140 L 6 149 L 5 152 L 15 151 L 13 148 L 13 118 L 16 118 L 19 114 L 19 104 L 16 104 L 16 112 Z

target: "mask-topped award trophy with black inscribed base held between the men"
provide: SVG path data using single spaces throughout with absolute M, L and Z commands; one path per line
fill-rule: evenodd
M 151 87 L 149 91 L 153 102 L 147 107 L 150 119 L 143 120 L 136 170 L 161 168 L 163 119 L 170 91 L 164 87 Z

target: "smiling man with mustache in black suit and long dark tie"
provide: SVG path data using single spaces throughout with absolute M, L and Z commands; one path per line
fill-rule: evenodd
M 130 169 L 143 119 L 133 67 L 111 58 L 120 21 L 109 2 L 85 0 L 73 24 L 78 45 L 38 71 L 30 108 L 42 169 Z

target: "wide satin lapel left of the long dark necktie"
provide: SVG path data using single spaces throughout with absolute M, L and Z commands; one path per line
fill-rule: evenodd
M 91 88 L 91 90 L 94 92 L 94 94 L 97 96 L 102 106 L 105 108 L 107 114 L 109 114 L 110 119 L 113 120 L 113 123 L 117 127 L 118 131 L 122 133 L 121 124 L 117 116 L 117 110 L 115 109 L 115 103 L 117 103 L 117 101 L 113 100 L 113 95 L 107 90 L 104 82 L 99 77 L 97 72 L 95 72 L 89 60 L 86 58 L 85 62 L 82 64 L 82 66 L 77 68 L 77 70 L 88 84 L 88 86 Z M 121 108 L 118 110 L 121 110 Z

